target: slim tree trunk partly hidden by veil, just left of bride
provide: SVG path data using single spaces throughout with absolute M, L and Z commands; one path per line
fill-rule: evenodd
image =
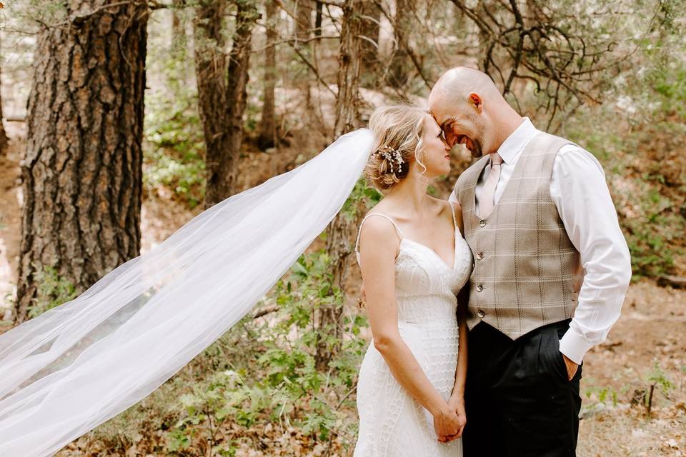
M 338 54 L 338 94 L 336 98 L 336 124 L 334 136 L 338 137 L 359 126 L 359 70 L 360 49 L 362 41 L 359 36 L 362 31 L 360 12 L 364 1 L 350 0 L 343 6 L 343 23 L 341 26 L 341 45 Z M 357 219 L 347 219 L 339 213 L 327 228 L 326 250 L 331 259 L 332 282 L 334 288 L 344 290 L 344 284 L 348 273 L 348 263 L 352 246 L 350 240 L 354 239 Z M 332 291 L 333 293 L 334 291 Z M 342 304 L 332 304 L 319 308 L 318 328 L 320 332 L 317 341 L 317 355 L 315 361 L 317 368 L 326 369 L 334 353 L 339 346 L 330 346 L 329 341 L 337 341 L 339 344 L 342 335 L 341 318 L 343 313 Z M 324 335 L 334 338 L 325 338 Z

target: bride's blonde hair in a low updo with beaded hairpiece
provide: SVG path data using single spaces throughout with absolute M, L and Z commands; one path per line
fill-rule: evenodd
M 391 189 L 409 173 L 409 164 L 423 152 L 424 119 L 428 111 L 412 105 L 379 106 L 369 118 L 374 147 L 364 169 L 369 182 L 379 190 Z

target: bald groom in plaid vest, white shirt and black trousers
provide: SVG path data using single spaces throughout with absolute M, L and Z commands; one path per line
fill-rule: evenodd
M 447 71 L 429 108 L 448 143 L 479 158 L 450 196 L 474 255 L 464 456 L 575 456 L 582 359 L 619 318 L 631 277 L 605 174 L 481 71 Z

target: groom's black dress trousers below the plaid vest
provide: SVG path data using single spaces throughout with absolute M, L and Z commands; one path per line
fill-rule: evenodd
M 512 341 L 479 323 L 469 332 L 464 457 L 573 457 L 581 366 L 568 380 L 560 338 L 570 319 Z

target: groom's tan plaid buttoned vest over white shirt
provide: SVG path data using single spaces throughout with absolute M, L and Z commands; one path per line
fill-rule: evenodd
M 474 255 L 467 324 L 484 321 L 516 339 L 547 323 L 571 318 L 577 306 L 579 253 L 550 196 L 552 164 L 571 141 L 537 134 L 525 146 L 498 203 L 482 219 L 474 188 L 488 156 L 455 184 L 464 238 Z

